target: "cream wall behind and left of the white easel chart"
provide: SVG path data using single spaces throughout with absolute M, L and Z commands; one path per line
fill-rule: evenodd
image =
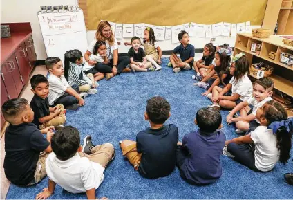
M 1 23 L 30 22 L 37 60 L 47 57 L 37 12 L 40 6 L 50 5 L 77 5 L 77 0 L 1 0 Z

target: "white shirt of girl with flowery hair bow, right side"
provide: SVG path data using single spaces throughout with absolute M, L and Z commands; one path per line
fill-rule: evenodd
M 247 75 L 244 75 L 238 82 L 232 77 L 230 82 L 232 84 L 232 96 L 234 93 L 240 95 L 240 100 L 248 100 L 252 96 L 252 82 Z

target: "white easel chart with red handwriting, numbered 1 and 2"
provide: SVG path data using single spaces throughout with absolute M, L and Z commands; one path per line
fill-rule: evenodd
M 38 18 L 48 57 L 59 57 L 64 62 L 64 53 L 70 49 L 79 49 L 83 55 L 86 53 L 88 43 L 82 10 L 79 12 L 39 12 Z

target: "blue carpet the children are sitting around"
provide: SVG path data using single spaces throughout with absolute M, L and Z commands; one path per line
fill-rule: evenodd
M 91 134 L 94 144 L 112 143 L 116 157 L 105 170 L 105 179 L 96 190 L 97 197 L 109 199 L 292 199 L 293 187 L 283 181 L 285 172 L 293 172 L 292 158 L 287 165 L 278 164 L 271 172 L 259 173 L 222 156 L 223 176 L 211 185 L 194 186 L 180 178 L 178 169 L 167 177 L 155 180 L 142 178 L 122 157 L 119 140 L 135 140 L 138 131 L 149 127 L 144 121 L 146 101 L 163 96 L 171 104 L 171 118 L 179 128 L 179 138 L 196 129 L 196 111 L 210 101 L 202 97 L 204 90 L 193 87 L 192 71 L 174 74 L 162 59 L 163 69 L 150 73 L 123 73 L 111 80 L 102 80 L 97 95 L 86 98 L 86 106 L 68 111 L 67 125 L 80 131 L 81 138 Z M 236 137 L 234 127 L 225 122 L 228 111 L 221 111 L 227 139 Z M 10 185 L 7 199 L 35 199 L 48 187 L 48 178 L 41 183 L 20 188 Z M 70 194 L 57 185 L 49 199 L 86 199 L 86 194 Z

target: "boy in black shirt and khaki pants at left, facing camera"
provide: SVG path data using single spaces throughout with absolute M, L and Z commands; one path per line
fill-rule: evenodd
M 34 120 L 32 121 L 39 129 L 50 126 L 64 125 L 66 122 L 65 110 L 62 104 L 55 107 L 49 107 L 48 93 L 49 82 L 44 75 L 37 74 L 30 78 L 32 92 L 35 93 L 30 107 L 34 111 Z

